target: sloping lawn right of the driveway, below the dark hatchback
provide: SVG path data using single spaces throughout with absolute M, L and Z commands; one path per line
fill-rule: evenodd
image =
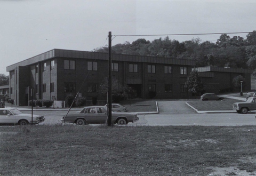
M 225 99 L 222 101 L 187 101 L 189 105 L 197 110 L 233 110 L 234 102 L 242 102 L 241 100 Z

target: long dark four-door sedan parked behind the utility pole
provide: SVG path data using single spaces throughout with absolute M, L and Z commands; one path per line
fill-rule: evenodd
M 132 113 L 111 113 L 113 124 L 126 125 L 129 122 L 139 121 L 137 114 Z M 89 106 L 84 107 L 79 113 L 68 114 L 62 117 L 61 121 L 65 123 L 74 123 L 77 125 L 85 124 L 103 124 L 107 122 L 108 109 L 106 106 Z

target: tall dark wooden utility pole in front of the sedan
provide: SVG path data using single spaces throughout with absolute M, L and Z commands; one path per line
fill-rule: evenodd
M 111 60 L 111 31 L 108 32 L 108 126 L 112 121 L 112 60 Z

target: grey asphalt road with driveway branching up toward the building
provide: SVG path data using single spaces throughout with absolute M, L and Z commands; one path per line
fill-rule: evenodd
M 139 115 L 139 121 L 128 125 L 203 125 L 203 126 L 237 126 L 256 125 L 255 113 L 203 113 L 197 114 L 186 105 L 186 101 L 158 101 L 159 114 Z M 44 115 L 41 124 L 60 124 L 60 119 L 67 111 L 34 111 Z M 74 113 L 74 111 L 70 111 Z

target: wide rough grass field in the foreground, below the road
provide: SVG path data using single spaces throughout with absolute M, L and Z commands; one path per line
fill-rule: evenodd
M 210 166 L 256 171 L 247 160 L 255 159 L 255 126 L 33 125 L 0 131 L 0 175 L 207 175 Z

